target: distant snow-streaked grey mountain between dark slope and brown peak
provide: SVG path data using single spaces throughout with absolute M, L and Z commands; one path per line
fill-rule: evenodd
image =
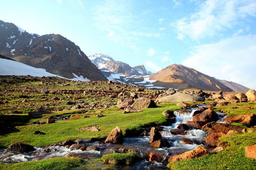
M 94 54 L 92 56 L 88 56 L 88 58 L 97 66 L 98 69 L 103 71 L 103 73 L 108 72 L 111 74 L 122 74 L 125 77 L 146 76 L 150 74 L 150 72 L 145 69 L 144 65 L 132 68 L 127 63 L 115 61 L 108 55 Z

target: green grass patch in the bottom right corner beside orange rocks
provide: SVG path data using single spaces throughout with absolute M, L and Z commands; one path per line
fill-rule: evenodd
M 169 163 L 171 170 L 255 170 L 256 160 L 245 157 L 245 147 L 256 145 L 256 132 L 221 137 L 221 142 L 231 146 L 218 153 L 196 159 Z

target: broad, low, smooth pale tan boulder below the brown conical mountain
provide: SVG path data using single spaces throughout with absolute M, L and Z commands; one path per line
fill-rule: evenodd
M 175 93 L 173 95 L 168 95 L 159 99 L 159 101 L 204 101 L 204 97 L 200 97 L 196 94 L 183 94 Z

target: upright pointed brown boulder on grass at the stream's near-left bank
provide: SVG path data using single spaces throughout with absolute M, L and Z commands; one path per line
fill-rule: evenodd
M 116 126 L 108 135 L 105 143 L 122 144 L 123 140 L 123 132 L 118 126 Z

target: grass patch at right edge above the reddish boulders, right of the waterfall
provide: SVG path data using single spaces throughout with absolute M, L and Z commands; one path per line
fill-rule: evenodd
M 243 109 L 243 107 L 249 106 L 253 107 L 254 109 Z M 232 108 L 237 107 L 237 108 Z M 223 107 L 215 107 L 216 110 L 222 110 L 223 113 L 227 113 L 227 116 L 239 115 L 239 114 L 256 114 L 256 103 L 255 102 L 248 102 L 248 103 L 230 103 L 227 106 Z

